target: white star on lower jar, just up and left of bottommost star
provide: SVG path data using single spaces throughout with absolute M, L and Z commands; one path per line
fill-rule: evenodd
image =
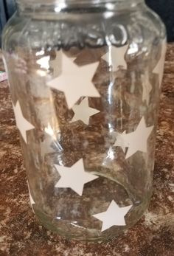
M 72 167 L 64 167 L 59 165 L 55 165 L 55 167 L 61 176 L 55 187 L 70 187 L 80 196 L 83 194 L 84 184 L 99 178 L 98 176 L 87 173 L 84 170 L 83 159 L 80 159 Z

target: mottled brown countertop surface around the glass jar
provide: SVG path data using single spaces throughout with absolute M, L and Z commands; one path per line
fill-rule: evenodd
M 161 94 L 153 197 L 136 226 L 107 243 L 66 241 L 44 229 L 29 206 L 27 177 L 7 82 L 0 83 L 0 256 L 174 255 L 174 44 Z

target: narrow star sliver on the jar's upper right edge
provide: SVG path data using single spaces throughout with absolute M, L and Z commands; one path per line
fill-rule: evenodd
M 162 78 L 164 75 L 164 61 L 165 61 L 166 51 L 167 51 L 167 44 L 166 44 L 166 38 L 165 38 L 162 42 L 161 58 L 157 63 L 155 69 L 153 69 L 153 72 L 159 75 L 159 87 L 161 87 Z

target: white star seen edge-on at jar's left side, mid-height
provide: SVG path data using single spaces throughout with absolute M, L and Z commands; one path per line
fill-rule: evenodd
M 16 105 L 13 105 L 13 109 L 15 112 L 15 122 L 18 127 L 18 130 L 21 132 L 21 136 L 23 137 L 24 141 L 27 143 L 27 131 L 34 129 L 35 127 L 28 122 L 21 111 L 21 105 L 17 101 Z

